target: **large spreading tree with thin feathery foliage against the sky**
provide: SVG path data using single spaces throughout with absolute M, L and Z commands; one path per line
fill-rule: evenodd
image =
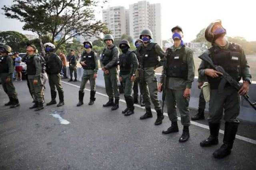
M 97 0 L 14 0 L 14 3 L 2 8 L 4 14 L 25 22 L 24 30 L 37 33 L 42 49 L 44 35 L 50 34 L 51 43 L 57 36 L 61 37 L 56 44 L 58 50 L 78 35 L 95 36 L 107 30 L 105 24 L 95 20 L 93 7 L 100 3 Z

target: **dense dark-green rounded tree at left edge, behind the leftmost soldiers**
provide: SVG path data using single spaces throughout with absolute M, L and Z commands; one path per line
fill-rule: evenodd
M 16 31 L 0 32 L 0 44 L 7 44 L 12 47 L 12 51 L 24 52 L 28 39 L 25 35 Z

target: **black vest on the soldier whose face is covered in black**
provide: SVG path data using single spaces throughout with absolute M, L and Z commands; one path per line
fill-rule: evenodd
M 128 50 L 125 54 L 122 53 L 118 59 L 118 64 L 120 65 L 120 72 L 123 75 L 129 74 L 132 68 L 130 53 L 133 53 L 133 51 Z

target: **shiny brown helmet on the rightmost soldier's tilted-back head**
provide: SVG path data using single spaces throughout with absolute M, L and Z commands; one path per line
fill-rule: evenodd
M 206 29 L 205 29 L 205 32 L 204 32 L 204 37 L 205 39 L 212 43 L 214 42 L 217 38 L 219 38 L 220 36 L 222 36 L 223 34 L 226 34 L 226 29 L 223 28 L 225 30 L 224 33 L 221 33 L 221 34 L 214 34 L 212 33 L 212 28 L 215 24 L 220 24 L 220 26 L 222 27 L 222 24 L 221 24 L 221 20 L 216 20 L 214 22 L 212 22 Z

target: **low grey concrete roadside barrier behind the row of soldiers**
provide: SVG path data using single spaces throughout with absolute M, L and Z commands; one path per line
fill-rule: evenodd
M 83 73 L 82 67 L 77 67 L 78 81 L 81 81 L 82 73 Z M 70 78 L 70 71 L 68 66 L 67 66 L 67 76 L 68 78 Z M 160 80 L 160 76 L 161 76 L 160 73 L 156 73 L 156 77 L 158 81 Z M 192 83 L 190 102 L 189 102 L 190 109 L 198 109 L 200 89 L 198 89 L 197 87 L 197 80 L 198 80 L 198 77 L 195 77 L 195 80 Z M 98 71 L 96 85 L 99 87 L 105 87 L 103 71 L 101 69 L 99 69 Z M 252 102 L 256 102 L 256 81 L 253 81 L 252 84 L 250 85 L 249 95 L 250 95 L 250 100 Z M 158 93 L 158 97 L 160 100 L 162 100 L 162 93 Z M 206 111 L 208 111 L 208 108 L 209 108 L 208 103 L 206 103 Z M 248 102 L 243 97 L 241 97 L 240 115 L 238 116 L 238 119 L 242 121 L 256 123 L 256 111 L 248 104 Z

